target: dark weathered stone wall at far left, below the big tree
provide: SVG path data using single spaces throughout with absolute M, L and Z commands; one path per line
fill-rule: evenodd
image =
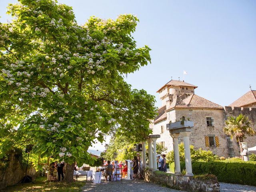
M 0 190 L 17 184 L 26 175 L 26 167 L 23 167 L 19 161 L 20 155 L 22 153 L 10 152 L 8 154 L 8 166 L 5 170 L 0 170 Z M 36 170 L 30 166 L 27 175 L 35 179 Z

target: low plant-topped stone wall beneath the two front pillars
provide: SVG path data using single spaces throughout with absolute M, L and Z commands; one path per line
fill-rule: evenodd
M 216 179 L 199 179 L 188 176 L 176 176 L 173 173 L 160 171 L 145 171 L 145 180 L 174 189 L 189 192 L 219 192 L 220 184 Z

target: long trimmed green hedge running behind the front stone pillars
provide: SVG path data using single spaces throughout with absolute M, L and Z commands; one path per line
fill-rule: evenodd
M 180 169 L 185 169 L 185 162 Z M 214 174 L 219 182 L 256 186 L 256 162 L 225 160 L 215 162 L 192 162 L 193 174 Z

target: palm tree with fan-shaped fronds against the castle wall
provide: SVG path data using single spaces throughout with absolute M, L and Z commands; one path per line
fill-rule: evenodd
M 230 138 L 236 138 L 236 142 L 240 146 L 240 152 L 243 151 L 241 142 L 244 141 L 245 135 L 254 135 L 255 131 L 251 127 L 252 122 L 245 115 L 240 114 L 237 117 L 230 116 L 225 121 L 224 133 L 230 135 Z

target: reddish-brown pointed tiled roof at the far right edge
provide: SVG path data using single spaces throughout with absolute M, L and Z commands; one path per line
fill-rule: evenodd
M 242 97 L 238 98 L 229 106 L 243 107 L 256 102 L 256 90 L 250 90 Z

